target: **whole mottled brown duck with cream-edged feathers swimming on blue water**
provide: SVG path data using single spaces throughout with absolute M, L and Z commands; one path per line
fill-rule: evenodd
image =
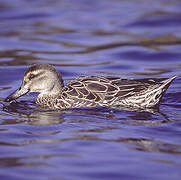
M 38 92 L 36 103 L 48 109 L 130 107 L 153 108 L 176 76 L 166 79 L 125 79 L 115 76 L 80 76 L 66 85 L 50 64 L 33 64 L 24 73 L 21 86 L 4 99 L 11 102 Z

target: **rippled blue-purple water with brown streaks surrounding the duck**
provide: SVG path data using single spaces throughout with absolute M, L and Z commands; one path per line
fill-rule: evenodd
M 80 75 L 179 76 L 159 112 L 47 111 L 26 95 L 0 106 L 0 177 L 181 178 L 179 0 L 1 0 L 0 102 L 33 63 Z

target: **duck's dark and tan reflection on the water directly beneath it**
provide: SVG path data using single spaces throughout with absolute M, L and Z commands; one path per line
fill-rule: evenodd
M 39 125 L 48 125 L 63 123 L 66 121 L 64 119 L 64 114 L 75 115 L 78 117 L 90 116 L 96 119 L 106 118 L 120 120 L 134 125 L 153 125 L 155 123 L 169 123 L 173 121 L 169 119 L 166 113 L 160 111 L 159 107 L 155 108 L 133 108 L 133 107 L 117 107 L 117 108 L 78 108 L 78 109 L 66 109 L 66 110 L 48 110 L 41 109 L 35 102 L 31 101 L 12 101 L 11 103 L 6 103 L 2 101 L 3 112 L 8 114 L 19 115 L 19 121 L 27 122 Z M 119 114 L 121 112 L 126 112 L 124 118 Z M 5 120 L 7 122 L 7 120 Z

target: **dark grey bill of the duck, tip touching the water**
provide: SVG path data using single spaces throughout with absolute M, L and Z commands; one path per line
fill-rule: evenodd
M 10 101 L 13 101 L 25 94 L 27 94 L 29 92 L 28 89 L 25 89 L 25 88 L 19 88 L 17 89 L 16 91 L 14 91 L 13 93 L 11 93 L 8 97 L 5 98 L 5 102 L 10 102 Z

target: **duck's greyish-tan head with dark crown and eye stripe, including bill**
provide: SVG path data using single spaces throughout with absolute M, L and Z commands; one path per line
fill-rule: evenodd
M 57 94 L 61 92 L 62 87 L 62 77 L 53 66 L 34 64 L 26 70 L 20 88 L 5 98 L 4 101 L 10 102 L 28 92 L 39 92 L 48 95 Z

